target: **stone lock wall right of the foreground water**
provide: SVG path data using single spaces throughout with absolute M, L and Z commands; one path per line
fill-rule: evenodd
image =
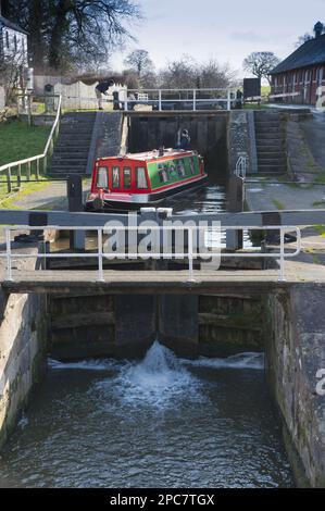
M 325 287 L 296 285 L 270 297 L 273 335 L 266 374 L 284 419 L 293 469 L 312 487 L 325 487 L 325 397 L 316 373 L 325 369 Z M 303 479 L 302 477 L 302 479 Z

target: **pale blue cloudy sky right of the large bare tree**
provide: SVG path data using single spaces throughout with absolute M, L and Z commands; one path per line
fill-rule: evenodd
M 252 51 L 273 51 L 282 60 L 299 36 L 325 23 L 325 0 L 138 0 L 145 21 L 132 27 L 137 42 L 111 59 L 121 70 L 125 55 L 149 51 L 157 68 L 183 54 L 197 61 L 228 62 L 243 76 L 242 61 Z

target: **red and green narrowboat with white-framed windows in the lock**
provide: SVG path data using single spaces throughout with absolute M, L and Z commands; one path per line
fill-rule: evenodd
M 202 186 L 208 175 L 197 151 L 164 149 L 96 160 L 86 211 L 134 210 Z

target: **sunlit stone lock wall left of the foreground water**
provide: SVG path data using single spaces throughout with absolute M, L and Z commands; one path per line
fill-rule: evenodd
M 45 295 L 2 296 L 0 324 L 0 448 L 46 369 Z

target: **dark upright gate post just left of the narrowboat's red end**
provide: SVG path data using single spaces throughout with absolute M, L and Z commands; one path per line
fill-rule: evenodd
M 82 176 L 67 176 L 66 188 L 68 211 L 73 213 L 84 211 Z M 73 230 L 70 233 L 70 248 L 72 250 L 85 250 L 85 230 Z

